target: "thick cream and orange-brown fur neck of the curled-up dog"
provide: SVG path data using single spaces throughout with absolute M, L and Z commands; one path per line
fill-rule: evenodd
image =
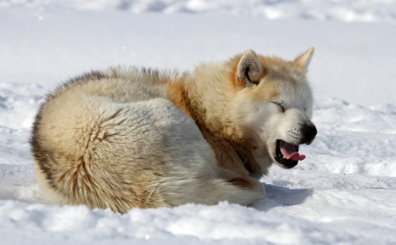
M 171 100 L 194 119 L 201 132 L 205 131 L 221 141 L 227 141 L 237 152 L 251 174 L 261 174 L 261 167 L 252 156 L 252 139 L 232 120 L 234 88 L 227 79 L 231 71 L 225 64 L 200 65 L 193 76 L 174 81 L 170 86 Z M 226 94 L 228 93 L 230 94 Z

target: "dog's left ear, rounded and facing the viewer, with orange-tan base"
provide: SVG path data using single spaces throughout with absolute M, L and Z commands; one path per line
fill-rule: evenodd
M 263 65 L 253 50 L 248 50 L 239 60 L 236 69 L 238 82 L 252 87 L 260 82 L 259 77 L 263 73 Z

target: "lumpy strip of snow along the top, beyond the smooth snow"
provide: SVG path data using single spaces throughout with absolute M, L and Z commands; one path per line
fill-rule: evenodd
M 396 22 L 396 0 L 2 0 L 0 7 L 131 13 L 216 13 L 359 22 Z

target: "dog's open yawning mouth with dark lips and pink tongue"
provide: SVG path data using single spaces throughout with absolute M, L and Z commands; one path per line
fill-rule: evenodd
M 290 144 L 284 140 L 276 141 L 275 161 L 282 164 L 285 168 L 291 169 L 298 164 L 298 161 L 305 159 L 305 155 L 298 153 L 298 146 Z

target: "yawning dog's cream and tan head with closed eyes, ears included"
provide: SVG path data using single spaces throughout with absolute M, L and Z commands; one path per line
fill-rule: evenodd
M 309 145 L 317 133 L 310 120 L 312 93 L 306 80 L 313 51 L 286 61 L 249 50 L 230 61 L 232 116 L 251 135 L 255 160 L 267 167 L 273 161 L 287 169 L 296 166 L 305 158 L 298 153 L 299 145 Z

